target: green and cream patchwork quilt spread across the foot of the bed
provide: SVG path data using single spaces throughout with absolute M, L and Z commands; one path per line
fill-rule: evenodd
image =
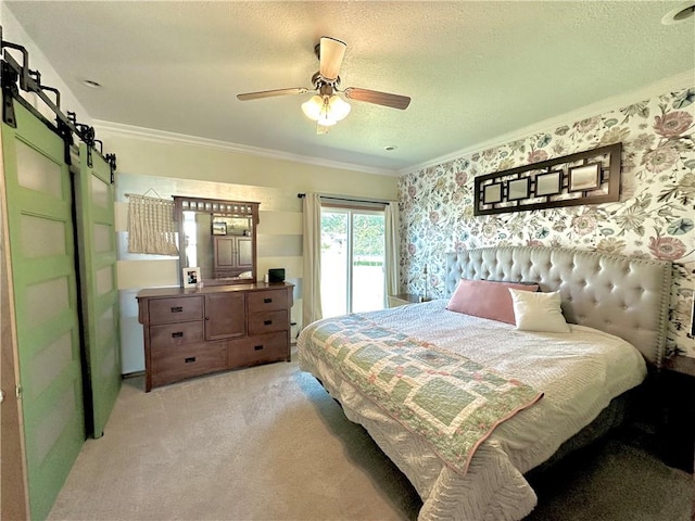
M 466 473 L 476 448 L 500 423 L 543 393 L 465 356 L 346 315 L 312 329 L 324 360 Z

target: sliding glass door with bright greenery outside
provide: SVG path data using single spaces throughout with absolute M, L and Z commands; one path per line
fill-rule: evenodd
M 382 309 L 386 239 L 382 209 L 321 207 L 325 317 Z

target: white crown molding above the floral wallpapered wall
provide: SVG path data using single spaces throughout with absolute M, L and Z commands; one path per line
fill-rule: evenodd
M 639 89 L 631 90 L 629 92 L 623 92 L 621 94 L 614 96 L 611 98 L 606 98 L 596 103 L 592 103 L 592 104 L 582 106 L 580 109 L 573 110 L 571 112 L 567 112 L 559 116 L 554 116 L 554 117 L 544 119 L 542 122 L 534 123 L 532 125 L 519 128 L 517 130 L 513 130 L 510 132 L 504 134 L 502 136 L 497 136 L 488 141 L 483 141 L 481 143 L 467 147 L 457 152 L 452 152 L 451 154 L 437 157 L 426 163 L 403 168 L 399 170 L 399 176 L 413 174 L 424 168 L 428 168 L 430 166 L 441 165 L 443 163 L 448 163 L 450 161 L 453 161 L 466 155 L 475 154 L 476 152 L 482 152 L 484 150 L 500 147 L 510 141 L 516 141 L 518 139 L 526 138 L 528 136 L 532 136 L 538 132 L 546 131 L 548 128 L 553 128 L 558 125 L 566 124 L 567 122 L 577 122 L 581 119 L 586 119 L 587 117 L 595 116 L 596 114 L 603 114 L 604 112 L 615 110 L 618 106 L 624 106 L 631 103 L 635 103 L 635 100 L 639 100 L 639 99 L 653 98 L 655 96 L 664 94 L 665 92 L 668 92 L 668 91 L 684 89 L 688 87 L 691 88 L 695 87 L 695 69 L 685 71 L 684 73 L 678 74 L 675 76 L 671 76 L 669 78 L 661 79 L 646 87 L 641 87 Z

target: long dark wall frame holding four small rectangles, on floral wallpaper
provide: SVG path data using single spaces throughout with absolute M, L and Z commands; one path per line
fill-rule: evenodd
M 479 176 L 473 215 L 620 200 L 622 143 Z

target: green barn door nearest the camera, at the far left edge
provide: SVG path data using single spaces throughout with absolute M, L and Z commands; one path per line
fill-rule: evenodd
M 85 441 L 71 177 L 63 141 L 14 103 L 3 134 L 30 516 L 42 520 Z

